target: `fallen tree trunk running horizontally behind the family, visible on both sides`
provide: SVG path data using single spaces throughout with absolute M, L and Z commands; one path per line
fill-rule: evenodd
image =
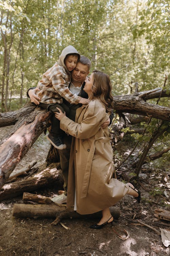
M 148 91 L 142 91 L 139 93 L 135 93 L 133 95 L 124 95 L 124 96 L 114 96 L 114 102 L 115 107 L 118 112 L 127 112 L 132 113 L 133 110 L 135 110 L 136 114 L 141 113 L 142 115 L 148 116 L 147 113 L 150 112 L 150 115 L 157 115 L 157 109 L 155 109 L 155 104 L 148 104 L 146 100 L 154 99 L 158 97 L 169 97 L 170 93 L 167 93 L 166 90 L 162 90 L 162 88 L 156 88 Z M 120 104 L 121 102 L 121 104 Z M 146 106 L 144 104 L 146 103 Z M 136 104 L 136 106 L 135 106 Z M 143 109 L 143 106 L 145 107 Z M 14 125 L 17 121 L 19 121 L 22 117 L 28 116 L 28 114 L 32 113 L 33 110 L 37 107 L 34 103 L 27 103 L 23 108 L 16 110 L 16 111 L 10 111 L 6 113 L 0 113 L 0 127 L 8 126 L 8 125 Z M 167 115 L 164 116 L 164 111 L 162 113 L 162 110 L 169 110 L 168 108 L 162 109 L 162 106 L 160 107 L 160 119 L 167 120 Z M 127 111 L 122 111 L 127 110 Z M 148 112 L 149 110 L 149 112 Z M 138 113 L 137 113 L 138 112 Z M 169 113 L 170 114 L 170 113 Z M 153 116 L 154 117 L 154 116 Z M 161 118 L 162 117 L 162 118 Z M 158 117 L 156 117 L 158 118 Z M 170 117 L 168 117 L 169 120 Z

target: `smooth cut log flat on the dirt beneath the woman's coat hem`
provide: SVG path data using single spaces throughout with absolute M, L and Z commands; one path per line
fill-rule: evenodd
M 120 209 L 118 207 L 111 207 L 111 214 L 114 219 L 120 216 Z M 14 217 L 19 218 L 56 218 L 52 224 L 57 224 L 62 218 L 100 218 L 101 212 L 94 214 L 81 215 L 72 208 L 66 209 L 56 205 L 54 202 L 51 204 L 14 204 L 13 214 Z

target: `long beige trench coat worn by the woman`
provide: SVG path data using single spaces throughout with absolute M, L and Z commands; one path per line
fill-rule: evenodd
M 73 122 L 62 118 L 60 128 L 73 136 L 69 162 L 67 208 L 74 205 L 77 212 L 91 214 L 111 207 L 127 194 L 129 187 L 113 179 L 113 150 L 108 128 L 101 125 L 108 119 L 105 105 L 91 100 L 77 109 Z

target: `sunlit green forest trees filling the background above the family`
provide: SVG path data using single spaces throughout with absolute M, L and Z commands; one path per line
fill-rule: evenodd
M 69 44 L 110 75 L 114 95 L 168 75 L 168 0 L 0 0 L 0 30 L 1 112 L 24 105 Z

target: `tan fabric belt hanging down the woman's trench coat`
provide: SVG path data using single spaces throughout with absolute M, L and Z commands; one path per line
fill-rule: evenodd
M 81 191 L 81 196 L 80 198 L 85 198 L 87 196 L 87 190 L 88 190 L 88 185 L 89 185 L 89 180 L 90 180 L 90 172 L 91 172 L 91 165 L 92 165 L 92 159 L 94 157 L 95 153 L 95 142 L 103 142 L 106 143 L 111 140 L 111 137 L 100 137 L 95 139 L 91 143 L 89 155 L 87 157 L 87 163 L 86 163 L 86 168 L 84 172 L 84 178 L 83 178 L 83 184 L 82 184 L 82 191 Z

